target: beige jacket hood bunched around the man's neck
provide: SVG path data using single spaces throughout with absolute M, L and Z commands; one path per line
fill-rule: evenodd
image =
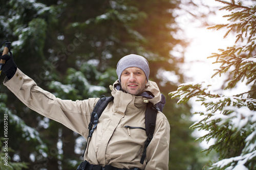
M 112 90 L 111 94 L 114 98 L 115 98 L 115 94 L 117 93 L 117 91 L 124 92 L 122 90 L 119 80 L 117 80 L 113 84 L 113 86 L 111 85 L 110 88 Z M 126 92 L 124 92 L 124 93 L 126 93 Z M 126 93 L 126 94 L 128 94 L 128 93 Z M 153 82 L 153 81 L 147 81 L 145 90 L 141 94 L 139 94 L 139 95 L 130 94 L 130 95 L 135 96 L 135 98 L 147 99 L 153 105 L 156 105 L 156 107 L 160 111 L 162 111 L 164 104 L 166 103 L 164 95 L 160 93 L 160 90 L 159 90 L 156 82 Z

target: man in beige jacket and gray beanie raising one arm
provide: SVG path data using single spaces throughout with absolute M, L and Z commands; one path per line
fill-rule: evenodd
M 38 87 L 16 67 L 12 57 L 4 55 L 0 59 L 6 60 L 4 85 L 20 101 L 87 138 L 91 112 L 99 98 L 61 100 Z M 85 169 L 168 169 L 170 129 L 167 118 L 160 111 L 153 139 L 146 148 L 146 158 L 143 164 L 140 163 L 147 138 L 145 102 L 155 105 L 162 100 L 157 84 L 148 80 L 150 68 L 147 60 L 134 54 L 125 56 L 119 60 L 116 72 L 118 80 L 111 86 L 114 100 L 102 112 L 88 141 L 84 154 L 84 160 L 88 162 Z

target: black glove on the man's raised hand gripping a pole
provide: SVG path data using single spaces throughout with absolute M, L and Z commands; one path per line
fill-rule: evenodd
M 3 55 L 0 53 L 0 59 L 3 59 L 5 60 L 5 64 L 2 66 L 2 71 L 6 74 L 6 77 L 10 80 L 16 70 L 17 70 L 17 66 L 16 64 L 14 63 L 13 61 L 13 57 L 12 57 L 12 54 L 11 55 Z

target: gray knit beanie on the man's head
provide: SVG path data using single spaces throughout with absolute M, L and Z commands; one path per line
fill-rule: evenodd
M 129 67 L 138 67 L 142 69 L 146 75 L 146 80 L 148 81 L 148 77 L 150 77 L 150 67 L 147 60 L 142 56 L 130 54 L 121 58 L 117 63 L 116 74 L 119 82 L 121 82 L 121 74 L 123 70 Z

